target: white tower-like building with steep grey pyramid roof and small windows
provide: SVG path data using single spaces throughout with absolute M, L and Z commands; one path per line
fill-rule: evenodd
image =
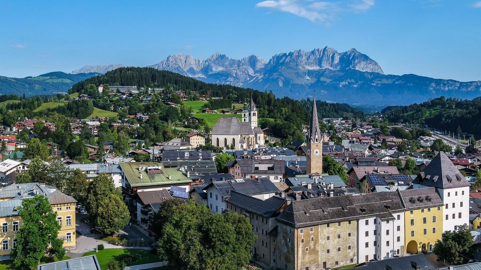
M 443 232 L 469 224 L 469 186 L 444 152 L 431 160 L 413 181 L 413 188 L 434 187 L 443 200 Z

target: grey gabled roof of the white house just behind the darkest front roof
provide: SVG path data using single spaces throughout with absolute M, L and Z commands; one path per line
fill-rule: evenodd
M 279 191 L 278 187 L 267 177 L 217 181 L 212 182 L 203 189 L 206 190 L 212 185 L 214 185 L 225 198 L 230 196 L 232 190 L 245 195 L 259 195 Z

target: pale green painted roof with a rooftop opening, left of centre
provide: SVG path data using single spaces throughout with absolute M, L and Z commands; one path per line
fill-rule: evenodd
M 162 173 L 147 173 L 147 169 L 139 171 L 140 166 L 160 166 Z M 120 169 L 127 178 L 130 186 L 147 186 L 159 184 L 186 184 L 191 183 L 190 177 L 177 170 L 177 168 L 164 168 L 161 162 L 120 162 Z M 142 174 L 142 179 L 140 179 Z M 170 175 L 170 179 L 169 179 Z

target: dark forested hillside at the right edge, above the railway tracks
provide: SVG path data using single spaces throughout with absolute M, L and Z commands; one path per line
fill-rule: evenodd
M 458 134 L 481 135 L 481 98 L 473 100 L 458 98 L 434 98 L 421 104 L 405 107 L 389 106 L 382 110 L 392 123 L 427 124 Z

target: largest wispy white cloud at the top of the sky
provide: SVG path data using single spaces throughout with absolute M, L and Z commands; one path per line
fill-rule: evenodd
M 255 7 L 289 12 L 313 23 L 329 24 L 339 12 L 366 12 L 373 5 L 374 0 L 265 0 L 257 3 Z

